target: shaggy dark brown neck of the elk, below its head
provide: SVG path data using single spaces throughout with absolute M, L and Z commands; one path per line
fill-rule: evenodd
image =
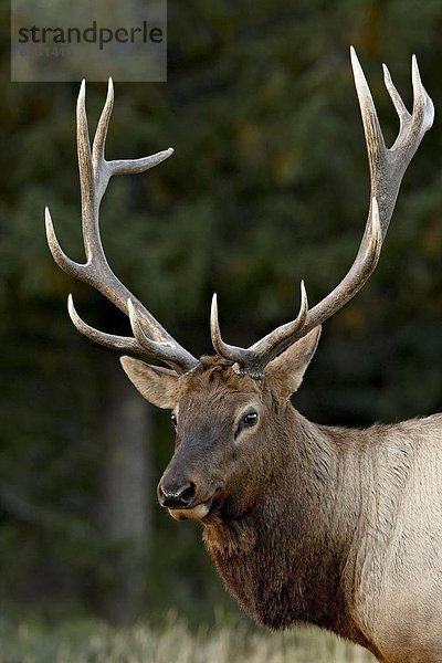
M 286 407 L 260 499 L 241 517 L 227 511 L 209 518 L 206 546 L 228 589 L 261 623 L 308 622 L 367 644 L 349 614 L 369 481 L 364 431 L 316 425 Z

